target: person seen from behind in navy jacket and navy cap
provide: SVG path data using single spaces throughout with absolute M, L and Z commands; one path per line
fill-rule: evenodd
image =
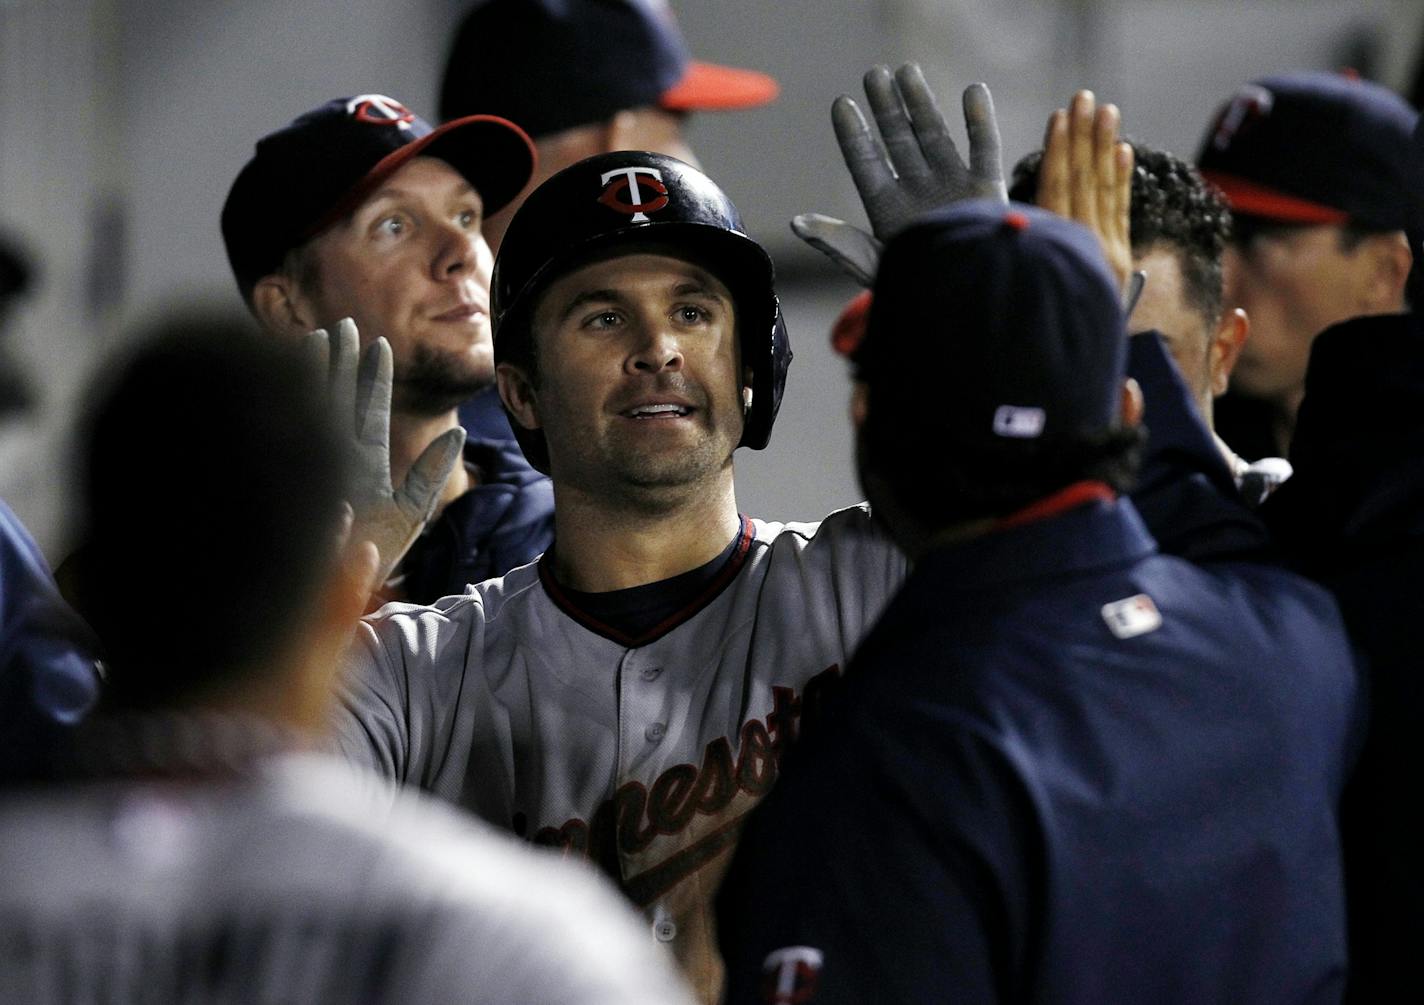
M 752 813 L 729 1002 L 1337 999 L 1350 648 L 1304 579 L 1156 554 L 1118 300 L 1028 206 L 890 239 L 852 416 L 914 572 Z

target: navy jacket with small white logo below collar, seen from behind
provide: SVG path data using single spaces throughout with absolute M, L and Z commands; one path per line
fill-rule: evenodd
M 1330 596 L 1131 503 L 930 554 L 752 813 L 729 1001 L 1337 1001 L 1356 729 Z

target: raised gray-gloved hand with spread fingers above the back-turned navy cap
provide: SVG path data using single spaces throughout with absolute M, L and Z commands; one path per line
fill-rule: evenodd
M 918 65 L 907 63 L 894 75 L 887 67 L 873 67 L 864 84 L 880 140 L 844 94 L 832 105 L 830 118 L 874 236 L 820 214 L 796 216 L 792 231 L 862 286 L 870 286 L 881 242 L 916 216 L 960 199 L 1008 202 L 1008 194 L 988 87 L 971 84 L 964 90 L 970 138 L 965 164 Z

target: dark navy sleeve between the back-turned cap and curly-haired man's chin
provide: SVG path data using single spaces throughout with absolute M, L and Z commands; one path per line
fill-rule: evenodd
M 1146 451 L 1132 504 L 1166 555 L 1190 561 L 1272 554 L 1210 430 L 1156 332 L 1128 339 L 1128 376 L 1142 387 Z

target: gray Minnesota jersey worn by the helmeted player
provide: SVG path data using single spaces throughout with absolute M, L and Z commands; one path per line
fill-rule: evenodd
M 906 571 L 864 507 L 743 518 L 723 574 L 632 639 L 525 565 L 369 618 L 337 735 L 390 777 L 597 860 L 715 1001 L 711 901 L 742 819 Z

